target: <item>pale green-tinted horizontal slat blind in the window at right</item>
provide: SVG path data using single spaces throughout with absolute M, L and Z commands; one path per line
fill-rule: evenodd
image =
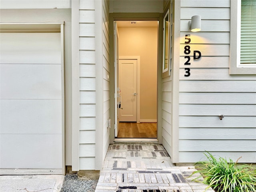
M 256 64 L 256 0 L 241 1 L 241 64 Z

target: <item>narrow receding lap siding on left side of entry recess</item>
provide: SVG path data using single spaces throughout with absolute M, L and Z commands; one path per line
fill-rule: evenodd
M 110 130 L 108 128 L 108 119 L 110 118 L 110 79 L 109 79 L 109 1 L 104 0 L 102 24 L 103 24 L 103 158 L 106 155 L 110 143 Z

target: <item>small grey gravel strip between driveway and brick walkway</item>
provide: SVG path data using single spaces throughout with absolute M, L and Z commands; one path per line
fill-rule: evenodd
M 81 180 L 77 174 L 66 174 L 60 192 L 94 192 L 98 180 Z

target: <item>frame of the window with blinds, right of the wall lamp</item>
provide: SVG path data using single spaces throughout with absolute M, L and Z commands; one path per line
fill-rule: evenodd
M 229 74 L 256 74 L 256 64 L 240 64 L 241 0 L 230 1 L 230 67 Z

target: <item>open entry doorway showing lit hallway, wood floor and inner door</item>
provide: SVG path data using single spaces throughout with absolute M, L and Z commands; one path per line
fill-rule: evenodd
M 118 21 L 116 27 L 115 138 L 156 139 L 158 21 Z

